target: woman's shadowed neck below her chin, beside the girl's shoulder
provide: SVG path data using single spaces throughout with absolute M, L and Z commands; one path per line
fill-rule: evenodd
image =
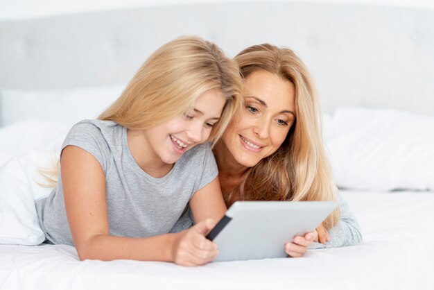
M 227 149 L 223 142 L 218 142 L 214 147 L 218 167 L 218 178 L 223 196 L 227 196 L 245 177 L 249 167 L 245 167 L 236 162 L 234 156 Z

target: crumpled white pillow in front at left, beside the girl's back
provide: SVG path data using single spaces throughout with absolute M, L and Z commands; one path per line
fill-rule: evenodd
M 44 239 L 35 209 L 35 199 L 48 196 L 51 189 L 37 173 L 48 167 L 52 153 L 31 150 L 13 157 L 0 167 L 0 244 L 33 246 Z

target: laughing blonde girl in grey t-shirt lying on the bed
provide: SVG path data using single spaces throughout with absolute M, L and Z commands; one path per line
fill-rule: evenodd
M 36 202 L 46 241 L 80 259 L 205 264 L 226 207 L 211 146 L 241 107 L 238 66 L 198 37 L 168 42 L 98 120 L 62 145 L 58 185 Z M 196 226 L 168 233 L 189 204 Z M 209 219 L 211 218 L 211 219 Z

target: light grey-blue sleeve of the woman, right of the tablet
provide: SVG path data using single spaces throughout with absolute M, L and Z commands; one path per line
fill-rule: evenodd
M 362 241 L 360 225 L 358 225 L 356 217 L 349 209 L 347 201 L 339 193 L 338 201 L 340 205 L 340 221 L 329 229 L 330 241 L 325 245 L 313 243 L 311 249 L 352 246 Z

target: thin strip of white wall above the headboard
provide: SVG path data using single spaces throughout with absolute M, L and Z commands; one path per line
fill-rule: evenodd
M 71 12 L 110 10 L 137 6 L 171 5 L 179 3 L 231 2 L 234 0 L 0 0 L 1 19 L 26 19 Z M 251 0 L 236 0 L 236 2 Z M 258 0 L 257 0 L 258 1 Z M 266 2 L 267 0 L 259 0 Z M 274 0 L 297 1 L 297 0 Z M 298 0 L 298 2 L 369 3 L 374 5 L 406 6 L 434 9 L 434 0 Z

